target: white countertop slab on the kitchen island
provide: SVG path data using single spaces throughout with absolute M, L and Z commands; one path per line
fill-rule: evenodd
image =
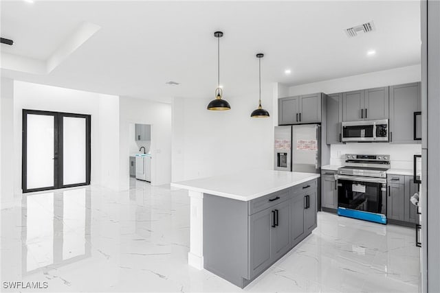
M 171 183 L 171 186 L 234 200 L 253 200 L 319 178 L 320 174 L 274 170 L 248 170 L 221 176 Z

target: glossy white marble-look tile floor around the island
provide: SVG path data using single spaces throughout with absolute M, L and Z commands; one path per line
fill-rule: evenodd
M 330 213 L 318 213 L 314 233 L 241 290 L 187 265 L 186 191 L 132 183 L 124 192 L 87 187 L 32 194 L 21 207 L 3 209 L 1 281 L 47 281 L 41 292 L 419 290 L 412 229 Z

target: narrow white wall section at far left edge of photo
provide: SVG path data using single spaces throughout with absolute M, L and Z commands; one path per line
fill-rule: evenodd
M 14 80 L 1 78 L 0 97 L 0 193 L 5 208 L 14 202 Z M 20 161 L 21 163 L 21 161 Z

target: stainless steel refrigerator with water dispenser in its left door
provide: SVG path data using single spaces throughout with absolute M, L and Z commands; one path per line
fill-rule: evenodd
M 276 126 L 275 169 L 320 173 L 320 130 L 319 124 Z

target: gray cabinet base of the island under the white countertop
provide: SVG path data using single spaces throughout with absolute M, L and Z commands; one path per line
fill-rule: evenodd
M 250 202 L 204 194 L 204 268 L 244 288 L 316 228 L 317 185 Z

